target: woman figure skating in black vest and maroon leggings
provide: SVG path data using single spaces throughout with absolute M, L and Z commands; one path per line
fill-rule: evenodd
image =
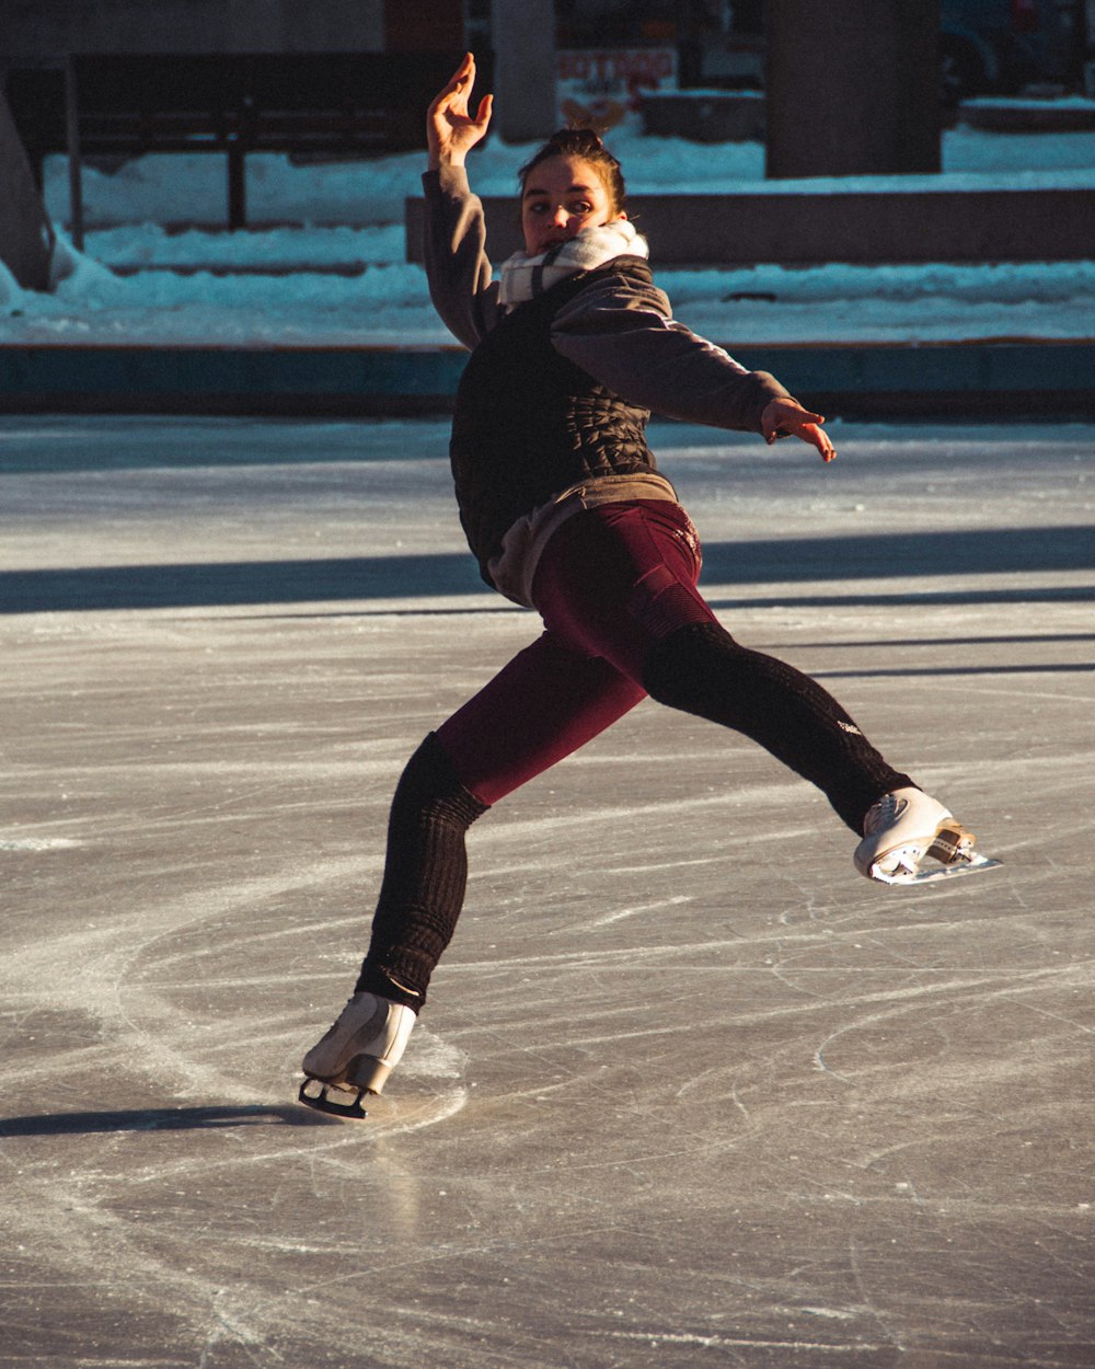
M 556 134 L 521 170 L 524 252 L 491 281 L 464 172 L 491 112 L 490 96 L 469 112 L 474 81 L 468 53 L 430 107 L 427 275 L 472 349 L 450 446 L 460 519 L 486 582 L 545 631 L 426 738 L 396 790 L 368 954 L 304 1058 L 301 1101 L 342 1116 L 364 1116 L 361 1094 L 381 1091 L 426 1002 L 463 905 L 471 823 L 647 694 L 817 784 L 862 836 L 861 873 L 905 882 L 925 854 L 981 862 L 825 690 L 719 624 L 695 589 L 695 530 L 643 435 L 653 409 L 794 435 L 831 461 L 824 419 L 672 319 L 619 163 L 589 131 Z

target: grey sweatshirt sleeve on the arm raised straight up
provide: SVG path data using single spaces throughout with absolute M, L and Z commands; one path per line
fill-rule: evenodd
M 474 348 L 501 312 L 498 285 L 486 255 L 483 205 L 464 167 L 441 167 L 422 178 L 426 193 L 424 256 L 430 298 L 442 323 Z

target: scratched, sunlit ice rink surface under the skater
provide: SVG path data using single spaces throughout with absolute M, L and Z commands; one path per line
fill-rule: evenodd
M 0 1366 L 1095 1364 L 1090 433 L 834 437 L 653 430 L 725 624 L 1003 869 L 871 884 L 643 704 L 472 830 L 344 1123 L 391 789 L 535 631 L 445 424 L 3 420 Z

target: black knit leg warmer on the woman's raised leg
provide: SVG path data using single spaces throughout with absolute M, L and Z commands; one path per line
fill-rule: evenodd
M 817 784 L 860 836 L 877 798 L 913 784 L 886 764 L 816 680 L 739 646 L 717 623 L 690 624 L 662 638 L 643 663 L 642 683 L 660 704 L 758 742 Z

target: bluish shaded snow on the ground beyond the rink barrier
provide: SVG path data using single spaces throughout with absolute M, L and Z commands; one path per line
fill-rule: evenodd
M 1095 133 L 992 134 L 958 127 L 939 177 L 765 183 L 760 144 L 701 146 L 623 130 L 612 140 L 632 193 L 1095 186 Z M 486 194 L 509 194 L 534 145 L 491 140 L 472 157 Z M 248 160 L 252 222 L 297 225 L 238 233 L 220 225 L 218 156 L 151 156 L 114 174 L 89 168 L 86 255 L 59 234 L 53 294 L 21 290 L 0 268 L 0 342 L 448 345 L 419 267 L 404 260 L 402 205 L 420 192 L 419 153 L 365 163 L 296 166 Z M 60 157 L 47 204 L 67 212 Z M 105 263 L 105 264 L 104 264 Z M 116 275 L 107 267 L 123 270 Z M 186 274 L 175 274 L 185 271 Z M 662 271 L 687 323 L 738 346 L 771 342 L 1087 338 L 1095 263 L 1014 266 L 758 266 Z

